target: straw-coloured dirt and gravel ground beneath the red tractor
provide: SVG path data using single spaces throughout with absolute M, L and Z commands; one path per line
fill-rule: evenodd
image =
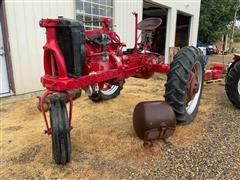
M 140 101 L 163 100 L 164 82 L 162 76 L 130 78 L 119 97 L 98 104 L 83 93 L 74 101 L 72 160 L 66 166 L 53 163 L 36 98 L 1 102 L 1 179 L 239 179 L 240 113 L 223 82 L 204 86 L 193 123 L 177 126 L 168 143 L 143 147 L 132 112 Z

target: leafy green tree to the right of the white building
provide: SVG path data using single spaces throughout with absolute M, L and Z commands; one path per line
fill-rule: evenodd
M 213 43 L 231 25 L 239 0 L 202 0 L 198 39 Z

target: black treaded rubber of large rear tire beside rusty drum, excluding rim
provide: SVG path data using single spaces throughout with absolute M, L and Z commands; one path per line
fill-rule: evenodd
M 192 122 L 198 110 L 199 102 L 192 116 L 186 116 L 186 86 L 189 74 L 196 61 L 200 61 L 203 67 L 202 53 L 197 48 L 191 46 L 183 47 L 170 64 L 170 72 L 168 73 L 168 80 L 165 84 L 166 90 L 164 97 L 165 101 L 172 106 L 178 124 L 188 124 Z

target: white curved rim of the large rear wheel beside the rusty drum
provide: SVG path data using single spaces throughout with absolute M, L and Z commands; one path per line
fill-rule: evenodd
M 198 104 L 198 100 L 200 98 L 201 95 L 201 90 L 202 90 L 202 65 L 200 62 L 196 62 L 196 64 L 194 65 L 196 67 L 197 70 L 197 79 L 198 79 L 198 83 L 199 83 L 199 88 L 197 93 L 195 94 L 194 98 L 188 102 L 187 107 L 186 107 L 186 111 L 187 113 L 190 115 L 193 113 L 193 111 L 196 109 L 197 104 Z

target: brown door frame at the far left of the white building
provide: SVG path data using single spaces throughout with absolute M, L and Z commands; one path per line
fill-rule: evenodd
M 10 89 L 10 95 L 12 93 L 15 94 L 15 84 L 13 78 L 13 68 L 12 68 L 12 59 L 10 54 L 10 46 L 8 41 L 8 28 L 7 28 L 7 18 L 6 18 L 6 9 L 5 9 L 5 1 L 0 0 L 0 22 L 2 25 L 2 36 L 3 36 L 3 46 L 4 46 L 4 54 L 5 61 L 7 65 L 7 74 L 8 74 L 8 83 Z

